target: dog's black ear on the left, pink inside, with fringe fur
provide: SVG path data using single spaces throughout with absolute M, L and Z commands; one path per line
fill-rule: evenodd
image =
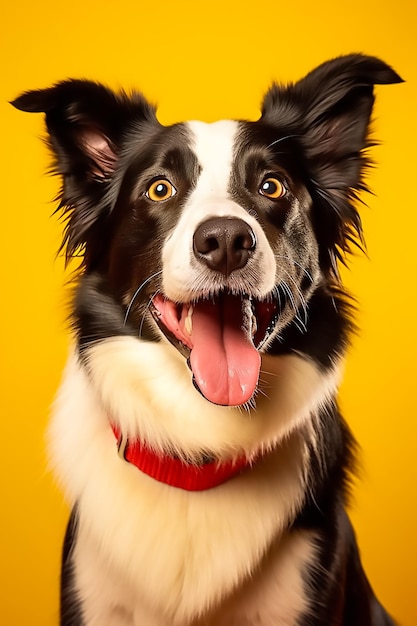
M 115 94 L 87 80 L 67 80 L 49 89 L 28 91 L 11 103 L 45 113 L 53 172 L 62 177 L 60 208 L 68 217 L 62 247 L 67 259 L 89 254 L 102 239 L 104 217 L 116 197 L 112 184 L 129 128 L 159 126 L 155 109 L 140 94 Z M 84 259 L 86 261 L 86 259 Z

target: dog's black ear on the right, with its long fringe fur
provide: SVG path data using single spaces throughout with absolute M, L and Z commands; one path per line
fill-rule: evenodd
M 350 243 L 362 242 L 354 200 L 366 190 L 373 87 L 400 82 L 383 61 L 352 54 L 320 65 L 295 84 L 273 85 L 265 96 L 261 119 L 294 135 L 301 146 L 323 266 L 335 275 Z

